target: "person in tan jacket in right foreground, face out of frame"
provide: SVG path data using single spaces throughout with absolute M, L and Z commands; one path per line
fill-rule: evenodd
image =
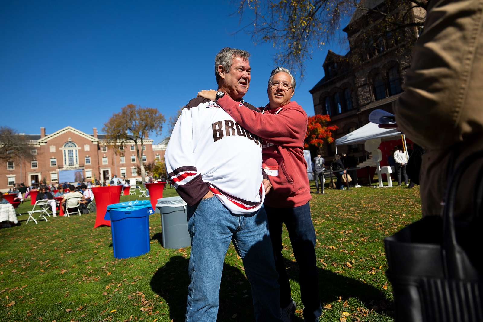
M 431 216 L 441 214 L 451 172 L 483 149 L 483 1 L 431 0 L 424 27 L 395 114 L 398 128 L 427 149 L 419 180 L 423 216 Z M 482 163 L 466 170 L 456 216 L 470 216 Z

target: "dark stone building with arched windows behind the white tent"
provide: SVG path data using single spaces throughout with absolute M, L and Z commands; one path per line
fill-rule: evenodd
M 424 12 L 418 8 L 409 9 L 408 3 L 361 0 L 359 5 L 388 15 L 408 12 L 409 21 L 421 20 Z M 384 36 L 375 39 L 373 36 L 382 17 L 374 11 L 355 10 L 343 29 L 347 33 L 349 52 L 342 56 L 329 50 L 323 64 L 325 76 L 309 91 L 315 114 L 328 114 L 331 118 L 329 125 L 339 127 L 335 138 L 367 124 L 374 109 L 392 113 L 392 104 L 401 95 L 401 85 L 410 68 L 412 46 L 419 31 L 415 27 L 404 28 L 384 32 Z M 352 150 L 356 157 L 366 154 L 363 145 L 338 146 L 337 149 L 338 153 Z M 321 148 L 327 161 L 333 159 L 335 151 L 335 142 Z

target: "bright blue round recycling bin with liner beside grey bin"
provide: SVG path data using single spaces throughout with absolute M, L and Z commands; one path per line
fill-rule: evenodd
M 115 258 L 136 257 L 149 251 L 149 215 L 153 213 L 149 200 L 107 206 L 104 219 L 111 220 Z

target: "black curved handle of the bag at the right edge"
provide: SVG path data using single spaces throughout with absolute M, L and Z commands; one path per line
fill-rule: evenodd
M 443 249 L 445 253 L 448 278 L 465 278 L 465 269 L 463 267 L 462 253 L 456 241 L 456 193 L 465 170 L 468 169 L 469 165 L 481 158 L 483 158 L 483 150 L 474 152 L 469 155 L 469 157 L 467 157 L 465 160 L 461 161 L 456 167 L 456 170 L 453 172 L 450 180 L 448 181 L 449 183 L 446 186 L 446 203 L 443 208 Z

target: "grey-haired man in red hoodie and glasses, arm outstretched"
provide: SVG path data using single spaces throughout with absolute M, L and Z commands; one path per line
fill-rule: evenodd
M 294 88 L 295 79 L 288 69 L 274 69 L 267 90 L 269 103 L 260 107 L 262 113 L 233 101 L 229 95 L 217 95 L 215 90 L 202 90 L 198 95 L 215 101 L 244 129 L 264 138 L 261 143 L 263 168 L 272 184 L 270 193 L 265 197 L 264 206 L 279 274 L 282 318 L 284 321 L 291 321 L 296 308 L 290 295 L 290 281 L 282 256 L 284 222 L 300 267 L 300 293 L 305 307 L 303 316 L 305 321 L 313 322 L 319 321 L 322 306 L 315 256 L 315 230 L 309 205 L 312 196 L 307 177 L 307 162 L 303 156 L 308 118 L 297 102 L 290 102 Z

